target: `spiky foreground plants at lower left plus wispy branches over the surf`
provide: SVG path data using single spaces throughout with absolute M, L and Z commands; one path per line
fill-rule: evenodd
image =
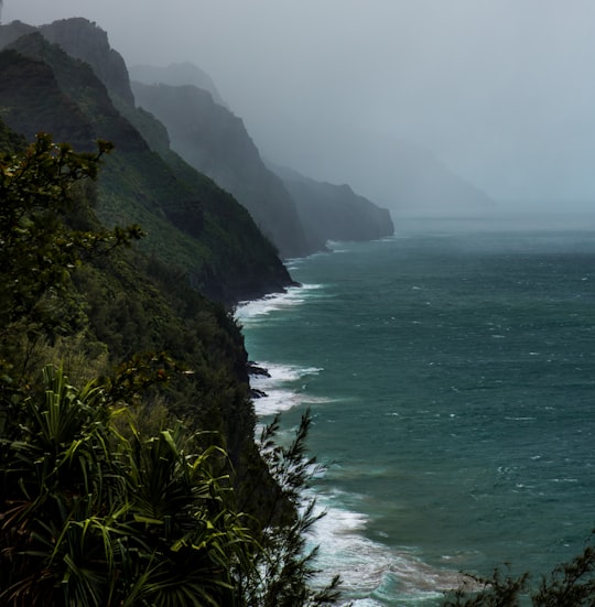
M 310 418 L 289 447 L 273 444 L 274 427 L 263 434 L 280 484 L 273 510 L 288 499 L 294 510 L 256 542 L 217 471 L 223 449 L 203 448 L 181 422 L 149 434 L 134 424 L 129 403 L 165 379 L 163 362 L 137 358 L 83 389 L 50 366 L 31 395 L 0 401 L 0 604 L 334 603 L 338 579 L 311 588 L 316 552 L 305 551 L 320 518 L 302 494 Z

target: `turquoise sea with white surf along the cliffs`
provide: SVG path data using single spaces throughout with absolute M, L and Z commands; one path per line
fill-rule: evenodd
M 311 407 L 321 565 L 355 605 L 547 573 L 595 528 L 595 232 L 401 234 L 238 311 L 263 420 Z M 260 382 L 260 383 L 259 383 Z

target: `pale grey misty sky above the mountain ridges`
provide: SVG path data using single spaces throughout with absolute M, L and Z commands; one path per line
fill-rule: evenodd
M 595 200 L 593 0 L 4 0 L 192 61 L 263 155 L 370 195 L 396 142 L 498 198 Z M 379 194 L 380 195 L 380 194 Z M 379 200 L 386 203 L 386 200 Z

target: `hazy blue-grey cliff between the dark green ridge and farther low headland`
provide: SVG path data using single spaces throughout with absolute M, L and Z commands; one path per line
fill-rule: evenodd
M 262 162 L 244 122 L 192 85 L 132 83 L 137 104 L 165 124 L 172 148 L 245 206 L 284 258 L 310 252 L 295 203 Z

